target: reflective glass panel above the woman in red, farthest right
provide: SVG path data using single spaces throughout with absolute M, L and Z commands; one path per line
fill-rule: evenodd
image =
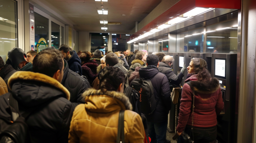
M 237 53 L 237 19 L 206 27 L 207 53 Z

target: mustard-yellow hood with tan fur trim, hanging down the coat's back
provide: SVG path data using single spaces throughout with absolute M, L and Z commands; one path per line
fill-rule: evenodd
M 95 90 L 90 88 L 83 92 L 85 108 L 91 112 L 109 113 L 116 110 L 132 110 L 129 98 L 121 92 Z

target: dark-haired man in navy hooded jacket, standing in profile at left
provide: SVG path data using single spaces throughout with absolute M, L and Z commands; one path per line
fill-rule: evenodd
M 80 74 L 83 74 L 81 68 L 81 60 L 79 59 L 76 51 L 70 51 L 69 46 L 67 45 L 60 46 L 59 51 L 61 51 L 63 54 L 67 64 L 69 64 L 69 69 L 74 72 L 80 72 Z

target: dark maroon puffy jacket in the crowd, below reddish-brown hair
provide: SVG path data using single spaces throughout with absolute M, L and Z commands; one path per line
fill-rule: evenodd
M 90 85 L 92 85 L 92 82 L 97 77 L 97 67 L 99 65 L 96 61 L 87 61 L 82 65 L 82 71 L 83 74 L 89 81 Z

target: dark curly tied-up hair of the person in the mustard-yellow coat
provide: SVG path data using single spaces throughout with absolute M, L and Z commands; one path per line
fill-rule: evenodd
M 106 66 L 99 74 L 99 88 L 101 91 L 117 91 L 124 83 L 124 73 L 117 67 Z

